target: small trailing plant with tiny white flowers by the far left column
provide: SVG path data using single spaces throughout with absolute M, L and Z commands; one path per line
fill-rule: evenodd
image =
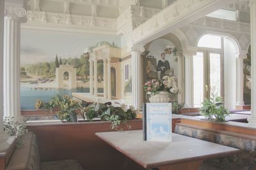
M 8 136 L 15 136 L 16 146 L 21 148 L 24 145 L 24 141 L 21 139 L 21 136 L 28 132 L 26 125 L 18 121 L 13 120 L 14 117 L 4 117 L 4 132 Z

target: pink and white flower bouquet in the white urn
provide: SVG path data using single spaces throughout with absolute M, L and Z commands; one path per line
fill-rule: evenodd
M 144 84 L 144 90 L 148 95 L 154 96 L 157 92 L 169 92 L 171 96 L 176 96 L 182 92 L 180 87 L 177 87 L 174 77 L 163 76 L 161 80 L 152 79 Z

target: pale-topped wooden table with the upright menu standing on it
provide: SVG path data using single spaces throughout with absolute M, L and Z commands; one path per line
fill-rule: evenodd
M 142 131 L 98 132 L 96 135 L 145 168 L 198 169 L 203 160 L 239 152 L 236 148 L 172 134 L 172 143 L 143 141 Z

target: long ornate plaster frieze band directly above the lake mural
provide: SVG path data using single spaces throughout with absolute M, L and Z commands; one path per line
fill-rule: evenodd
M 116 28 L 113 18 L 71 15 L 69 13 L 52 13 L 45 11 L 28 11 L 29 22 L 46 22 L 51 24 L 85 25 L 95 27 Z

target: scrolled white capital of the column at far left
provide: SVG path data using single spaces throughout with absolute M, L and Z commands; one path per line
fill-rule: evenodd
M 26 1 L 18 0 L 17 2 L 15 1 L 15 3 L 12 1 L 5 1 L 4 18 L 20 20 L 20 22 L 27 22 L 26 14 Z

